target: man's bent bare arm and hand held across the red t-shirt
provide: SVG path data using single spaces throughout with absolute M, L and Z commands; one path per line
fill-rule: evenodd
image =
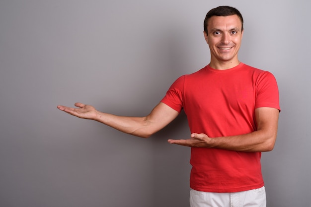
M 255 109 L 257 130 L 248 134 L 209 138 L 206 134 L 192 133 L 190 139 L 168 140 L 170 144 L 187 147 L 217 148 L 243 152 L 272 151 L 277 137 L 279 109 Z

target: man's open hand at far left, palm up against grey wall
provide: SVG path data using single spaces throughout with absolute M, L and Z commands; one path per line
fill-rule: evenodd
M 96 119 L 98 113 L 93 106 L 81 103 L 76 103 L 75 106 L 78 108 L 72 108 L 64 105 L 58 105 L 57 108 L 79 118 Z

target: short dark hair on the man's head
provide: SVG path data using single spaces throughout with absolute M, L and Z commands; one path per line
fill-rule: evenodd
M 204 19 L 204 31 L 207 33 L 207 23 L 208 20 L 212 16 L 231 16 L 231 15 L 237 15 L 238 18 L 241 20 L 242 23 L 242 28 L 241 30 L 243 31 L 243 17 L 242 14 L 234 7 L 231 6 L 218 6 L 216 8 L 211 9 L 209 12 L 207 12 L 206 17 Z

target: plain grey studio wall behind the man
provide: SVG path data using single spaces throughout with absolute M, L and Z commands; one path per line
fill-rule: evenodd
M 185 115 L 152 138 L 59 111 L 147 115 L 180 75 L 209 63 L 206 12 L 237 7 L 239 58 L 271 71 L 282 112 L 262 155 L 269 207 L 311 207 L 311 2 L 0 0 L 0 206 L 187 207 Z

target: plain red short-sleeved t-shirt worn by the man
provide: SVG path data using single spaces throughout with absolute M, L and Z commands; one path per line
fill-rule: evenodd
M 244 63 L 227 70 L 209 65 L 179 77 L 161 100 L 184 109 L 191 133 L 223 137 L 256 130 L 255 108 L 280 110 L 274 76 Z M 190 187 L 204 192 L 238 192 L 264 185 L 260 152 L 191 148 Z

